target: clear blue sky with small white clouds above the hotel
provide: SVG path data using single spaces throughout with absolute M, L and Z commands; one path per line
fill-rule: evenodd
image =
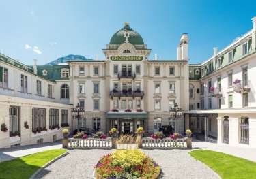
M 104 59 L 102 48 L 130 22 L 152 49 L 151 59 L 176 59 L 182 33 L 190 63 L 212 56 L 252 28 L 256 1 L 1 1 L 0 52 L 31 65 L 81 54 Z

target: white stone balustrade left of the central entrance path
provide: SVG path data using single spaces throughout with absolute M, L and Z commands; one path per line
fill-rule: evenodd
M 68 148 L 69 149 L 111 149 L 112 148 L 111 138 L 107 139 L 68 139 Z

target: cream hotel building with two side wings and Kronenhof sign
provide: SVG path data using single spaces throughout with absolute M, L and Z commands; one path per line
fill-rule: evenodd
M 58 140 L 63 127 L 154 133 L 162 125 L 256 146 L 256 18 L 251 31 L 203 63 L 189 65 L 188 44 L 184 33 L 176 59 L 149 59 L 151 49 L 126 23 L 102 49 L 104 60 L 27 66 L 1 54 L 0 148 Z M 184 110 L 179 118 L 170 117 L 175 103 Z M 83 118 L 72 116 L 78 106 Z

